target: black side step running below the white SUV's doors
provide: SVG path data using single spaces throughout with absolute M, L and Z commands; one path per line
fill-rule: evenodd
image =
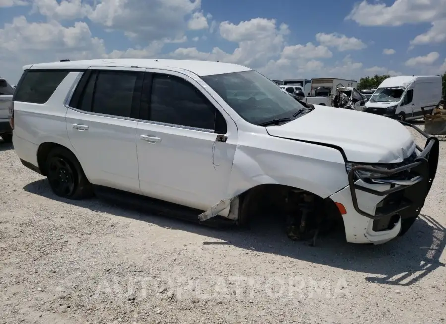
M 235 221 L 223 216 L 215 216 L 200 222 L 198 215 L 204 211 L 182 205 L 169 203 L 163 200 L 150 198 L 127 191 L 113 189 L 104 186 L 93 186 L 94 192 L 99 199 L 103 199 L 113 205 L 135 210 L 141 213 L 154 214 L 156 216 L 167 216 L 189 222 L 194 222 L 214 228 L 235 227 Z

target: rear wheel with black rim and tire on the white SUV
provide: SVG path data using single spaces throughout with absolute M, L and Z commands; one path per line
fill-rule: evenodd
M 76 200 L 93 196 L 92 185 L 70 150 L 52 149 L 45 160 L 45 172 L 51 190 L 57 196 Z

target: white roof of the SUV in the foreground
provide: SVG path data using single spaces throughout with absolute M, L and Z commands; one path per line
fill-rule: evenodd
M 83 61 L 40 63 L 23 66 L 28 69 L 88 69 L 91 66 L 111 66 L 111 67 L 141 67 L 141 68 L 161 68 L 163 70 L 187 70 L 198 76 L 223 74 L 231 72 L 250 71 L 250 68 L 237 64 L 196 61 L 196 60 L 178 60 L 178 59 L 94 59 Z

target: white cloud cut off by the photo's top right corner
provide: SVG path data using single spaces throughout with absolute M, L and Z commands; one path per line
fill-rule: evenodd
M 396 0 L 390 6 L 364 0 L 345 19 L 362 26 L 401 26 L 443 19 L 445 14 L 446 0 Z

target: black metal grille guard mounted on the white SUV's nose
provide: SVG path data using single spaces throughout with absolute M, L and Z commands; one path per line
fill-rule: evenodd
M 355 208 L 356 212 L 358 212 L 362 216 L 365 216 L 373 220 L 380 219 L 393 214 L 398 214 L 408 209 L 413 209 L 412 211 L 413 214 L 416 214 L 416 216 L 418 216 L 421 208 L 424 206 L 424 201 L 431 189 L 432 183 L 435 178 L 435 174 L 437 173 L 439 148 L 440 148 L 438 138 L 434 136 L 429 136 L 415 125 L 409 124 L 404 121 L 400 121 L 400 123 L 405 126 L 410 126 L 414 128 L 416 131 L 418 131 L 421 135 L 423 135 L 427 139 L 424 149 L 421 149 L 417 145 L 417 149 L 421 152 L 417 156 L 414 162 L 408 165 L 396 167 L 394 169 L 382 169 L 367 165 L 357 165 L 351 168 L 351 170 L 348 172 L 348 184 L 350 186 L 353 207 Z M 411 170 L 411 173 L 413 173 L 415 176 L 418 177 L 417 181 L 412 181 L 412 182 L 409 181 L 407 184 L 399 184 L 399 185 L 397 185 L 396 184 L 397 181 L 395 181 L 394 184 L 391 184 L 390 189 L 385 191 L 377 191 L 355 183 L 355 181 L 359 179 L 361 180 L 374 179 L 374 178 L 377 179 L 377 177 L 361 177 L 359 174 L 355 172 L 358 170 L 373 172 L 381 174 L 383 176 L 391 176 L 409 169 Z M 356 196 L 356 189 L 377 196 L 386 196 L 402 190 L 405 190 L 406 194 L 404 197 L 405 199 L 399 206 L 396 206 L 394 208 L 388 208 L 384 212 L 372 215 L 359 208 L 358 199 Z

